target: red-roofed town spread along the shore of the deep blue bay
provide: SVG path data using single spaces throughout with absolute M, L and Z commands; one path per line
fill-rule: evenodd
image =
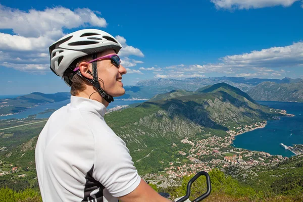
M 286 114 L 286 111 L 282 112 Z M 287 114 L 287 116 L 293 116 Z M 288 159 L 288 157 L 282 157 L 282 155 L 270 155 L 264 151 L 250 151 L 242 148 L 232 147 L 231 143 L 236 135 L 252 131 L 258 128 L 264 128 L 267 121 L 257 122 L 251 125 L 244 125 L 234 128 L 235 131 L 229 130 L 227 133 L 229 136 L 224 138 L 218 136 L 210 136 L 203 140 L 195 140 L 192 138 L 185 138 L 181 140 L 181 143 L 190 144 L 191 149 L 185 153 L 180 150 L 179 154 L 186 156 L 190 163 L 178 165 L 179 159 L 175 162 L 170 162 L 170 167 L 165 168 L 164 174 L 147 174 L 143 178 L 148 179 L 153 183 L 162 182 L 158 185 L 161 187 L 167 187 L 174 185 L 183 176 L 190 174 L 196 174 L 197 170 L 204 170 L 209 172 L 213 168 L 227 168 L 230 165 L 238 166 L 243 169 L 251 168 L 256 165 L 271 165 L 279 163 L 280 161 Z M 211 135 L 211 134 L 210 134 Z M 176 146 L 175 143 L 171 145 Z M 285 146 L 294 153 L 294 155 L 303 155 L 303 145 Z M 207 157 L 207 159 L 204 159 Z M 175 165 L 177 164 L 177 165 Z M 150 180 L 153 179 L 153 180 Z

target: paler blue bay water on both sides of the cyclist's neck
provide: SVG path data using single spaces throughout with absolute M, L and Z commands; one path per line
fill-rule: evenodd
M 116 99 L 114 102 L 112 102 L 107 109 L 111 109 L 117 106 L 122 106 L 122 105 L 131 105 L 135 103 L 142 103 L 145 100 L 121 100 L 121 99 Z M 63 106 L 66 106 L 67 104 L 70 103 L 70 99 L 64 100 L 62 102 L 57 102 L 57 103 L 50 103 L 46 105 L 40 105 L 38 107 L 30 108 L 27 109 L 19 114 L 14 114 L 14 115 L 9 115 L 9 116 L 3 116 L 0 117 L 1 119 L 23 119 L 27 118 L 29 115 L 34 115 L 37 114 L 36 118 L 42 119 L 42 118 L 49 118 L 53 112 L 45 113 L 45 114 L 39 114 L 39 112 L 44 112 L 47 109 L 55 109 L 58 110 Z

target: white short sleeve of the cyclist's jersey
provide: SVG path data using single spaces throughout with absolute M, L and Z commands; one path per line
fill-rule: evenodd
M 132 192 L 141 178 L 125 142 L 114 132 L 95 136 L 93 177 L 114 196 Z

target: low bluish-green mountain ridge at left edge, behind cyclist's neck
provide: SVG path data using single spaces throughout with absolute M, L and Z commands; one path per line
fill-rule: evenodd
M 33 92 L 16 98 L 0 99 L 0 116 L 20 113 L 38 105 L 61 102 L 69 99 L 70 96 L 69 92 L 57 92 L 55 94 Z

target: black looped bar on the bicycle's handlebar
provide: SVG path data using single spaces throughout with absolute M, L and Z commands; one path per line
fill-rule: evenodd
M 207 183 L 207 191 L 200 195 L 199 197 L 197 197 L 196 199 L 194 199 L 192 202 L 198 202 L 201 201 L 203 199 L 205 199 L 207 196 L 209 196 L 211 194 L 212 191 L 212 185 L 211 185 L 211 178 L 210 175 L 205 172 L 205 171 L 200 171 L 198 172 L 193 178 L 191 178 L 187 184 L 187 189 L 186 189 L 186 195 L 183 196 L 182 198 L 180 198 L 179 200 L 177 200 L 176 202 L 184 202 L 186 199 L 189 198 L 190 196 L 190 187 L 191 184 L 196 181 L 201 175 L 204 175 L 206 177 L 206 183 Z

